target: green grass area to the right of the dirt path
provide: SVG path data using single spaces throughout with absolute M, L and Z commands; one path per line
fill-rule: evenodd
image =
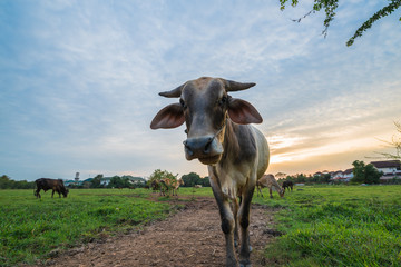
M 297 187 L 254 201 L 278 209 L 273 266 L 401 266 L 401 186 Z

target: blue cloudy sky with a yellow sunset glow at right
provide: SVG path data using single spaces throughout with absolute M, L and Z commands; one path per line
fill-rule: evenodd
M 159 91 L 202 76 L 253 81 L 232 93 L 264 118 L 267 172 L 351 168 L 391 151 L 401 120 L 400 11 L 345 41 L 387 1 L 341 1 L 323 38 L 312 1 L 0 2 L 0 175 L 149 176 L 186 161 L 184 126 L 150 130 Z

